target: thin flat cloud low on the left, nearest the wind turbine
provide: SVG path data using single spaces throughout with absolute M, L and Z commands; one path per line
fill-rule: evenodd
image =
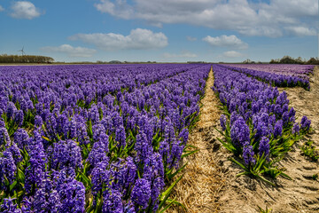
M 62 53 L 66 53 L 67 55 L 71 57 L 84 57 L 84 58 L 89 58 L 96 52 L 96 50 L 94 49 L 89 49 L 85 47 L 73 47 L 70 44 L 62 44 L 58 47 L 47 46 L 47 47 L 41 48 L 41 50 L 48 51 L 48 52 L 62 52 Z

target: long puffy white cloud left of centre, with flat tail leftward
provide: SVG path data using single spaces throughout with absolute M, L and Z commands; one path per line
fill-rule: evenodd
M 167 46 L 167 36 L 163 33 L 153 33 L 149 29 L 136 28 L 130 31 L 128 36 L 121 34 L 77 34 L 69 37 L 71 40 L 81 40 L 85 43 L 93 43 L 98 48 L 113 50 L 147 50 Z

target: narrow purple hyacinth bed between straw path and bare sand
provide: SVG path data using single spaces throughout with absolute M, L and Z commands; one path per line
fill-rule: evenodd
M 260 178 L 270 185 L 275 184 L 266 177 L 290 178 L 276 162 L 307 134 L 311 121 L 303 116 L 300 123 L 296 122 L 296 111 L 289 107 L 284 91 L 279 93 L 270 84 L 233 67 L 214 65 L 213 69 L 212 89 L 223 106 L 220 122 L 224 140 L 219 140 L 242 159 L 238 162 L 231 158 L 245 170 L 240 175 Z

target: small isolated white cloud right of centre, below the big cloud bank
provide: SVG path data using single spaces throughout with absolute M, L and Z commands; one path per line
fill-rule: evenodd
M 242 40 L 237 38 L 237 36 L 231 35 L 231 36 L 206 36 L 203 38 L 203 41 L 206 43 L 211 44 L 212 46 L 224 46 L 224 47 L 230 47 L 230 48 L 237 48 L 237 49 L 247 49 L 248 44 L 244 43 Z

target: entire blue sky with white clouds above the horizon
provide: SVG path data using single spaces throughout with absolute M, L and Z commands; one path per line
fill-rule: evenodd
M 317 0 L 0 0 L 0 54 L 56 61 L 318 56 Z

